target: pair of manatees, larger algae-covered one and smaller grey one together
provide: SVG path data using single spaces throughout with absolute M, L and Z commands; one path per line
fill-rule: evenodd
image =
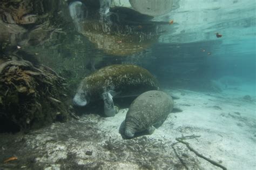
M 133 138 L 137 132 L 153 133 L 173 109 L 173 99 L 159 91 L 157 79 L 137 65 L 110 65 L 85 77 L 73 98 L 76 106 L 103 99 L 104 114 L 117 113 L 112 98 L 138 96 L 130 105 L 125 118 L 124 134 Z

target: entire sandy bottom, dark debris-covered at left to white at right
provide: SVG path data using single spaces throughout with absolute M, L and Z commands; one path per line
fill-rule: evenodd
M 227 169 L 256 169 L 255 93 L 163 91 L 180 97 L 174 101 L 183 112 L 169 114 L 152 135 L 122 138 L 127 108 L 109 118 L 86 114 L 25 134 L 0 134 L 0 168 L 221 169 L 176 140 L 197 135 L 184 141 L 199 154 Z M 252 101 L 243 99 L 246 94 Z M 12 156 L 18 159 L 3 163 Z

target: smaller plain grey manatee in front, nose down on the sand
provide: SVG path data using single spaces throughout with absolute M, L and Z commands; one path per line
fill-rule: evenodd
M 131 104 L 125 117 L 125 136 L 147 130 L 150 134 L 159 127 L 173 109 L 173 99 L 162 91 L 147 91 Z

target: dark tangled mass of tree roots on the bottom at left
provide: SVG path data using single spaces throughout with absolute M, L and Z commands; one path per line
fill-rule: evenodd
M 65 80 L 27 60 L 0 65 L 0 132 L 28 130 L 70 117 Z M 12 130 L 16 127 L 16 130 Z

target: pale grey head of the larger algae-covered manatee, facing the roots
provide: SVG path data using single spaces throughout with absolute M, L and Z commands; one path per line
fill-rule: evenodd
M 89 103 L 90 98 L 87 95 L 86 90 L 83 89 L 83 84 L 78 87 L 77 93 L 73 98 L 73 104 L 75 106 L 85 106 Z

